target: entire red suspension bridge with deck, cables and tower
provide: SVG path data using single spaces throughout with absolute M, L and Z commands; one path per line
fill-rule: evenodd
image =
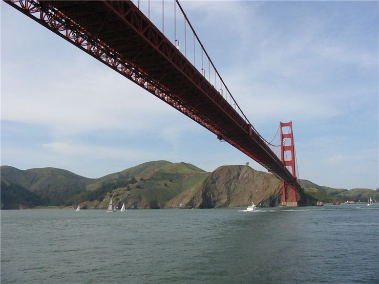
M 278 145 L 257 132 L 177 0 L 166 1 L 174 6 L 166 33 L 164 0 L 157 25 L 150 0 L 144 12 L 139 1 L 6 2 L 260 163 L 282 180 L 283 205 L 298 205 L 292 122 L 280 123 Z

